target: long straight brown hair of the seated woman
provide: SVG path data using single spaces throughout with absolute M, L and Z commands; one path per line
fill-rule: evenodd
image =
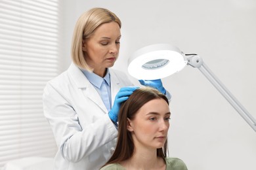
M 150 87 L 138 88 L 129 96 L 127 101 L 122 103 L 118 115 L 119 123 L 116 149 L 110 160 L 108 160 L 105 165 L 110 163 L 120 163 L 121 161 L 128 160 L 133 156 L 135 146 L 131 131 L 127 129 L 127 118 L 133 120 L 138 110 L 148 101 L 153 99 L 164 99 L 169 105 L 169 101 L 163 93 Z M 166 152 L 167 140 L 165 141 L 163 148 L 157 148 L 157 156 L 165 160 Z

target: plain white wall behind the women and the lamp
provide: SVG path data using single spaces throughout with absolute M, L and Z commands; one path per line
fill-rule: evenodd
M 110 9 L 123 22 L 116 69 L 127 67 L 129 56 L 142 46 L 173 44 L 185 54 L 199 54 L 256 118 L 255 1 L 65 1 L 63 69 L 70 64 L 75 21 L 92 7 Z M 188 169 L 256 169 L 255 131 L 198 69 L 186 67 L 163 83 L 173 95 L 171 156 L 184 160 Z

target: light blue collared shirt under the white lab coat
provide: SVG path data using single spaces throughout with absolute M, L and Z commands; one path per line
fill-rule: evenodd
M 110 90 L 110 71 L 106 69 L 106 75 L 104 78 L 101 76 L 96 75 L 95 73 L 91 73 L 89 71 L 81 69 L 83 74 L 87 77 L 89 82 L 93 84 L 96 91 L 100 95 L 102 101 L 104 102 L 104 105 L 106 106 L 106 109 L 108 112 L 111 109 L 111 90 Z

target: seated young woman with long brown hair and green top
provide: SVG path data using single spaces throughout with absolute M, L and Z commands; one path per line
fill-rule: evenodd
M 116 150 L 104 169 L 187 169 L 179 158 L 168 158 L 168 99 L 153 88 L 139 88 L 121 105 Z

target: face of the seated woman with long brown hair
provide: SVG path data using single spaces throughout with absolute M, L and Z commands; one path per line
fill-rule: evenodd
M 136 148 L 161 148 L 167 139 L 169 105 L 164 99 L 153 99 L 143 105 L 133 120 L 128 120 L 127 129 L 131 131 Z

